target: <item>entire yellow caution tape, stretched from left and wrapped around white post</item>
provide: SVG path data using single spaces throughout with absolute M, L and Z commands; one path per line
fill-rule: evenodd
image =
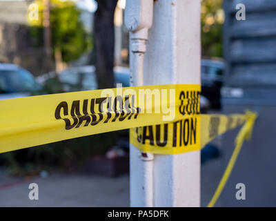
M 199 150 L 246 122 L 246 115 L 200 115 L 200 85 L 88 90 L 0 101 L 0 153 L 130 129 L 141 151 Z

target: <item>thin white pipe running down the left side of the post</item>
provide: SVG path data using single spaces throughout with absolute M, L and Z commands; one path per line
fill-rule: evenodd
M 152 26 L 153 0 L 126 1 L 125 24 L 130 31 L 130 86 L 144 85 L 144 53 Z M 154 155 L 130 144 L 130 206 L 153 206 Z

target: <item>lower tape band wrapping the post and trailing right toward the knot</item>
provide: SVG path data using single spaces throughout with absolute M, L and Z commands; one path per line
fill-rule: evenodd
M 178 154 L 197 151 L 230 129 L 246 115 L 191 115 L 179 121 L 130 129 L 130 143 L 143 152 Z

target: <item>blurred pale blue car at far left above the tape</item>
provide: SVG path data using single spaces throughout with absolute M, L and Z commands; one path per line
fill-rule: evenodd
M 28 70 L 14 64 L 0 64 L 0 99 L 26 97 L 40 88 Z

